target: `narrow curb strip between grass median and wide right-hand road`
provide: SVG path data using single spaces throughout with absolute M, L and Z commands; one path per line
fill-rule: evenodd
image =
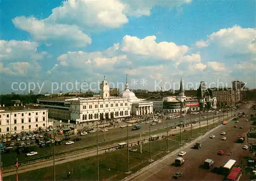
M 229 122 L 229 121 L 233 120 L 233 118 L 234 118 L 234 117 L 230 118 L 227 122 Z M 168 153 L 167 155 L 165 155 L 165 156 L 161 157 L 161 159 L 159 159 L 159 160 L 157 160 L 157 161 L 153 162 L 152 164 L 147 165 L 146 167 L 144 167 L 144 168 L 142 168 L 142 169 L 140 169 L 140 170 L 136 171 L 136 172 L 135 172 L 135 173 L 133 173 L 132 175 L 126 176 L 125 178 L 121 179 L 121 181 L 124 181 L 124 180 L 131 180 L 131 179 L 133 179 L 134 177 L 136 177 L 136 174 L 138 174 L 139 172 L 144 172 L 144 170 L 146 170 L 146 169 L 148 169 L 149 167 L 151 167 L 151 166 L 153 166 L 153 165 L 155 165 L 155 164 L 159 163 L 160 161 L 162 161 L 162 160 L 166 159 L 166 157 L 168 157 L 169 155 L 171 155 L 171 154 L 173 154 L 174 152 L 178 151 L 179 149 L 181 149 L 181 148 L 183 148 L 183 147 L 187 146 L 188 144 L 191 144 L 192 142 L 195 142 L 195 141 L 196 141 L 196 140 L 198 140 L 199 138 L 203 137 L 205 134 L 207 134 L 207 133 L 209 133 L 209 132 L 211 132 L 211 131 L 214 131 L 215 129 L 219 128 L 220 126 L 222 126 L 222 124 L 220 124 L 220 125 L 216 126 L 215 128 L 213 128 L 213 129 L 211 129 L 211 130 L 207 131 L 206 133 L 204 133 L 204 134 L 200 135 L 199 137 L 197 137 L 197 138 L 196 138 L 196 139 L 194 139 L 193 141 L 190 141 L 190 142 L 186 143 L 185 145 L 183 145 L 183 146 L 181 146 L 181 147 L 177 148 L 176 150 L 174 150 L 174 151 L 172 151 L 172 152 Z M 131 178 L 131 179 L 129 179 L 129 178 Z

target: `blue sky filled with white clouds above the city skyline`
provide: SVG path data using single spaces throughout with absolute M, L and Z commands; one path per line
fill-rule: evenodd
M 254 0 L 2 0 L 0 94 L 256 87 Z

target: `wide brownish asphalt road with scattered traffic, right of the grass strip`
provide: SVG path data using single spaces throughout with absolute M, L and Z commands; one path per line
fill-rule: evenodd
M 248 110 L 248 108 L 249 106 L 247 105 L 245 109 L 240 109 L 240 111 L 249 114 L 250 110 Z M 172 176 L 176 172 L 182 172 L 184 174 L 182 178 L 180 178 L 181 180 L 223 180 L 222 175 L 212 173 L 210 170 L 205 170 L 199 167 L 206 159 L 213 159 L 216 167 L 223 166 L 229 159 L 237 160 L 237 163 L 240 163 L 241 161 L 246 162 L 246 160 L 243 159 L 243 156 L 250 156 L 248 150 L 242 149 L 246 143 L 235 143 L 240 134 L 249 130 L 250 123 L 249 121 L 246 122 L 245 119 L 246 118 L 240 118 L 239 123 L 230 121 L 227 125 L 221 125 L 197 139 L 195 142 L 200 142 L 202 144 L 201 149 L 191 149 L 192 144 L 186 145 L 184 148 L 165 157 L 160 162 L 144 168 L 141 172 L 131 175 L 131 177 L 125 180 L 173 180 L 174 178 L 172 178 Z M 233 127 L 235 124 L 238 125 L 237 128 Z M 244 126 L 243 129 L 240 129 L 241 125 Z M 223 135 L 220 135 L 220 133 L 222 131 L 227 132 L 225 135 L 227 139 L 225 141 L 221 140 Z M 211 134 L 216 135 L 216 137 L 210 139 L 209 136 Z M 217 153 L 220 149 L 225 150 L 226 154 L 218 155 Z M 180 151 L 186 151 L 184 165 L 181 167 L 172 166 Z

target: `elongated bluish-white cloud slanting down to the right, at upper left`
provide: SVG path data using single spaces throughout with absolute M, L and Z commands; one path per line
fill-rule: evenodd
M 87 34 L 84 34 L 74 25 L 51 24 L 45 19 L 38 20 L 33 17 L 26 18 L 25 16 L 15 17 L 12 21 L 15 27 L 29 32 L 35 40 L 46 42 L 68 41 L 77 47 L 83 47 L 92 42 Z

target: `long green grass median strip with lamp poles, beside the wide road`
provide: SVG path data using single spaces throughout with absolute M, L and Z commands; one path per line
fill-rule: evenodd
M 215 124 L 217 126 L 218 123 Z M 219 125 L 219 124 L 218 124 Z M 214 128 L 211 124 L 209 129 Z M 207 127 L 201 128 L 201 134 L 207 132 Z M 192 130 L 192 138 L 199 137 L 199 128 Z M 179 148 L 181 145 L 180 134 L 177 133 L 171 139 L 168 139 L 169 151 Z M 191 141 L 191 132 L 182 132 L 182 142 Z M 142 146 L 142 154 L 140 146 L 135 146 L 138 151 L 130 152 L 130 170 L 132 173 L 151 164 L 150 159 L 150 144 L 145 143 Z M 152 159 L 158 160 L 165 156 L 166 140 L 152 142 Z M 68 172 L 71 172 L 69 180 L 96 180 L 97 179 L 97 157 L 91 156 L 86 159 L 71 161 L 61 165 L 56 165 L 56 179 L 67 180 Z M 100 180 L 120 180 L 127 176 L 127 150 L 120 149 L 99 155 L 99 174 Z M 14 180 L 15 175 L 4 177 L 4 180 Z M 19 174 L 20 180 L 53 180 L 53 167 L 42 168 Z

